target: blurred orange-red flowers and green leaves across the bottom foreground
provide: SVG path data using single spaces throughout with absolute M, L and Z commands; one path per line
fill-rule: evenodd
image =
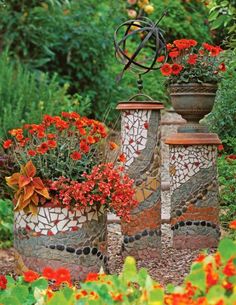
M 234 225 L 236 228 L 236 224 Z M 200 254 L 182 286 L 163 287 L 127 257 L 120 275 L 88 274 L 81 288 L 71 285 L 64 268 L 28 271 L 18 280 L 0 278 L 0 302 L 42 305 L 232 305 L 236 302 L 236 244 L 220 242 L 213 255 Z M 37 303 L 35 301 L 37 300 Z

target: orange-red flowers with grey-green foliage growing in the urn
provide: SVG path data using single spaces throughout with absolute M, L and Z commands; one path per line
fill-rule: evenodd
M 205 82 L 216 83 L 219 72 L 226 66 L 219 58 L 223 51 L 219 46 L 203 43 L 197 47 L 194 39 L 179 39 L 167 44 L 168 62 L 161 67 L 161 73 L 169 77 L 170 83 Z M 157 62 L 164 62 L 164 56 Z

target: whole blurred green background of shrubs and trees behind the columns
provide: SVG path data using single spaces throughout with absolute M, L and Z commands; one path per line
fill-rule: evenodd
M 135 2 L 0 1 L 0 138 L 6 138 L 10 128 L 37 123 L 42 114 L 58 114 L 62 110 L 104 120 L 104 113 L 111 109 L 106 123 L 112 126 L 117 102 L 137 92 L 132 73 L 126 73 L 119 84 L 115 82 L 122 66 L 116 61 L 113 48 L 113 33 L 130 18 Z M 148 14 L 152 20 L 158 20 L 168 9 L 160 24 L 167 42 L 193 38 L 227 50 L 224 60 L 229 69 L 219 84 L 214 110 L 206 122 L 222 139 L 225 154 L 235 154 L 236 0 L 149 2 L 152 8 L 149 7 Z M 164 79 L 158 71 L 144 77 L 144 91 L 170 106 Z M 10 165 L 4 151 L 0 155 L 1 184 Z M 230 177 L 235 178 L 236 161 L 219 162 L 222 175 L 232 162 L 231 175 L 221 180 L 226 187 L 232 181 Z M 231 184 L 228 189 L 232 188 Z M 1 197 L 6 196 L 2 193 Z M 235 197 L 230 200 L 226 197 L 222 197 L 223 204 L 230 206 L 228 202 L 232 204 Z

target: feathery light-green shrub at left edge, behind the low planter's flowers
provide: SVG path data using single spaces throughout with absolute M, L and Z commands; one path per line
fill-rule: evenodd
M 56 76 L 29 72 L 20 63 L 14 64 L 7 52 L 0 55 L 0 138 L 7 130 L 23 123 L 39 122 L 42 114 L 77 110 L 90 112 L 90 101 L 76 94 L 67 94 L 68 85 L 60 87 Z M 13 115 L 14 114 L 14 115 Z

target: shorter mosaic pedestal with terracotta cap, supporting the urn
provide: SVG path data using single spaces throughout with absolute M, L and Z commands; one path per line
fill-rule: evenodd
M 219 229 L 216 134 L 177 133 L 170 146 L 171 229 L 177 249 L 216 247 Z

